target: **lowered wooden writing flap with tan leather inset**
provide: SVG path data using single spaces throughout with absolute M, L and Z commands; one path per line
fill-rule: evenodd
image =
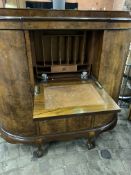
M 93 81 L 41 84 L 34 99 L 34 119 L 119 111 L 119 106 Z

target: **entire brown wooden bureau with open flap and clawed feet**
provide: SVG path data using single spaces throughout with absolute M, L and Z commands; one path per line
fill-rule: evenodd
M 131 36 L 129 12 L 0 9 L 0 132 L 10 143 L 113 129 Z

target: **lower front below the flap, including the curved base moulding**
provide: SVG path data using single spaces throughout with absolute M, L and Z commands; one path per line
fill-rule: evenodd
M 96 114 L 75 116 L 39 122 L 39 134 L 19 136 L 1 128 L 2 137 L 10 143 L 35 143 L 88 138 L 90 133 L 97 137 L 100 133 L 113 129 L 117 123 L 116 114 Z

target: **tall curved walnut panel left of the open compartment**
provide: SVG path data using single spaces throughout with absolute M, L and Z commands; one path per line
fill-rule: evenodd
M 0 124 L 7 132 L 32 136 L 32 95 L 30 90 L 23 31 L 0 31 Z

